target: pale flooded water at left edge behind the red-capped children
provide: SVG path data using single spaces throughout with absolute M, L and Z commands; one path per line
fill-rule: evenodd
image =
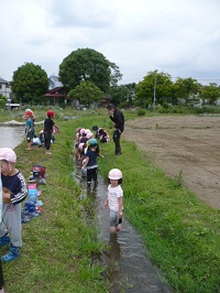
M 0 148 L 14 149 L 24 138 L 23 127 L 0 127 Z

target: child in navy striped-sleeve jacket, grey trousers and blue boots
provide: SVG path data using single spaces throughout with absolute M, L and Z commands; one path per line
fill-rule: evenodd
M 0 224 L 0 246 L 10 245 L 10 251 L 1 257 L 2 261 L 11 261 L 20 256 L 21 237 L 21 203 L 28 195 L 24 176 L 15 169 L 16 155 L 9 148 L 0 148 L 2 181 L 2 221 Z M 11 235 L 9 238 L 8 230 Z

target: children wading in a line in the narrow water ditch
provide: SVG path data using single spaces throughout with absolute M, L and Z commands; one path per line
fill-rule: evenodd
M 97 159 L 103 158 L 99 152 L 98 141 L 109 142 L 109 135 L 102 128 L 92 127 L 96 134 L 89 129 L 78 128 L 76 133 L 75 155 L 76 160 L 81 162 L 81 176 L 87 180 L 87 187 L 91 187 L 91 180 L 97 186 Z M 96 137 L 96 138 L 94 138 Z M 112 169 L 109 174 L 108 197 L 105 200 L 105 208 L 110 209 L 110 234 L 121 230 L 123 216 L 123 189 L 121 188 L 122 172 L 119 169 Z

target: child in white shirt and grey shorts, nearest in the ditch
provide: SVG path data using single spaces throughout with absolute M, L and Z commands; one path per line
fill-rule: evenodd
M 112 169 L 109 172 L 108 198 L 105 202 L 105 208 L 110 209 L 110 234 L 121 230 L 123 216 L 123 189 L 121 188 L 122 173 L 119 169 Z

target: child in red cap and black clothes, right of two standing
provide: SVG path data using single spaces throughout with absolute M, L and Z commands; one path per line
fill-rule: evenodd
M 52 154 L 50 149 L 51 149 L 51 143 L 53 139 L 53 132 L 54 130 L 59 132 L 59 129 L 53 120 L 53 118 L 55 117 L 55 112 L 53 110 L 48 110 L 46 112 L 46 116 L 47 118 L 44 120 L 44 144 L 46 149 L 46 154 Z

